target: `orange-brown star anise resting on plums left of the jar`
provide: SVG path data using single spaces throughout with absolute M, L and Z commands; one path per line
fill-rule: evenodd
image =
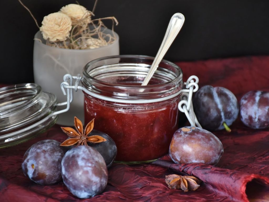
M 61 144 L 61 146 L 71 146 L 74 144 L 87 145 L 87 142 L 99 143 L 107 141 L 105 138 L 99 135 L 88 136 L 89 133 L 93 130 L 94 119 L 87 124 L 84 131 L 82 122 L 77 117 L 74 117 L 74 125 L 76 130 L 74 130 L 71 127 L 61 127 L 63 132 L 65 132 L 68 135 L 68 137 L 70 137 L 67 140 L 65 140 Z

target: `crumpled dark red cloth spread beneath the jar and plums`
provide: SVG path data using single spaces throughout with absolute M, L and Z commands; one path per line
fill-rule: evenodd
M 249 90 L 269 91 L 269 56 L 177 64 L 183 70 L 184 81 L 197 75 L 200 86 L 228 88 L 238 100 Z M 172 165 L 168 156 L 162 158 L 166 161 L 152 164 L 114 164 L 109 168 L 108 185 L 103 193 L 80 200 L 63 182 L 41 186 L 22 173 L 22 157 L 32 144 L 44 139 L 66 139 L 55 125 L 33 140 L 0 150 L 0 201 L 269 201 L 269 129 L 252 130 L 239 119 L 231 129 L 231 133 L 213 132 L 224 146 L 224 154 L 216 166 Z M 176 172 L 192 174 L 203 183 L 196 191 L 170 190 L 165 175 Z

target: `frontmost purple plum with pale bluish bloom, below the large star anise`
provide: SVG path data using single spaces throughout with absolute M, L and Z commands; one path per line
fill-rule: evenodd
M 63 157 L 62 178 L 73 195 L 90 198 L 105 189 L 108 181 L 107 166 L 96 149 L 79 145 L 67 151 Z

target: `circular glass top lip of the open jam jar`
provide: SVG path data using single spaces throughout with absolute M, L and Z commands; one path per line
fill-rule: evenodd
M 173 67 L 175 67 L 178 71 L 179 71 L 179 74 L 176 78 L 172 79 L 171 81 L 168 81 L 168 82 L 164 82 L 164 83 L 158 83 L 158 84 L 153 84 L 153 85 L 145 85 L 145 86 L 142 86 L 142 85 L 136 85 L 136 86 L 133 86 L 133 85 L 121 85 L 121 84 L 114 84 L 114 83 L 110 83 L 110 82 L 105 82 L 105 81 L 100 81 L 99 79 L 95 79 L 94 77 L 90 76 L 87 72 L 87 68 L 90 66 L 90 65 L 93 65 L 94 63 L 96 62 L 99 62 L 99 61 L 102 61 L 102 60 L 107 60 L 107 59 L 113 59 L 113 58 L 130 58 L 130 57 L 140 57 L 142 59 L 150 59 L 150 60 L 154 60 L 154 57 L 151 57 L 151 56 L 147 56 L 147 55 L 112 55 L 112 56 L 106 56 L 106 57 L 101 57 L 101 58 L 97 58 L 95 60 L 92 60 L 90 62 L 88 62 L 85 67 L 83 68 L 83 76 L 85 76 L 87 79 L 91 79 L 93 80 L 94 82 L 97 82 L 97 83 L 102 83 L 104 85 L 107 85 L 107 86 L 117 86 L 118 88 L 132 88 L 132 89 L 151 89 L 151 88 L 158 88 L 158 87 L 161 87 L 161 86 L 165 86 L 167 84 L 171 84 L 171 83 L 174 83 L 174 82 L 177 82 L 180 78 L 182 79 L 182 70 L 181 68 L 176 65 L 175 63 L 173 62 L 170 62 L 168 60 L 162 60 L 161 62 L 164 62 L 166 64 L 169 64 Z

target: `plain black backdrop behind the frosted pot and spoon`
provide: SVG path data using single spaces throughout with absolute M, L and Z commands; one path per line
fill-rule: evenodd
M 39 26 L 43 17 L 74 0 L 22 0 Z M 92 10 L 94 0 L 79 0 Z M 34 20 L 16 0 L 1 1 L 1 81 L 33 82 Z M 185 24 L 165 55 L 170 61 L 269 54 L 269 1 L 262 0 L 99 0 L 95 17 L 115 16 L 121 54 L 154 56 L 171 16 Z M 111 28 L 111 21 L 105 21 Z

